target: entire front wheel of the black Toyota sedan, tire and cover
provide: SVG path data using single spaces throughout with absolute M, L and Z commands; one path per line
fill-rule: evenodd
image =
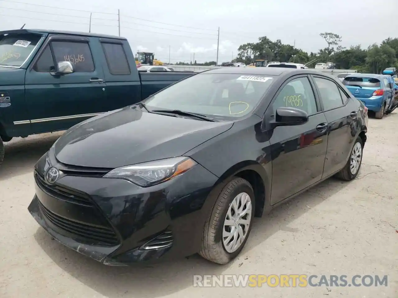
M 199 254 L 222 265 L 234 259 L 250 234 L 254 203 L 253 188 L 248 181 L 234 178 L 228 182 L 205 223 Z

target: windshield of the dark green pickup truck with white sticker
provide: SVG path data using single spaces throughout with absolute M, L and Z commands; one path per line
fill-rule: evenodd
M 20 67 L 29 57 L 41 36 L 7 34 L 0 36 L 0 66 Z

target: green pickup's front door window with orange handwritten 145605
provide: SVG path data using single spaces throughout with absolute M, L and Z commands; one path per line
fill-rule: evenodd
M 88 43 L 72 41 L 53 41 L 55 60 L 69 61 L 75 72 L 94 72 L 94 62 Z

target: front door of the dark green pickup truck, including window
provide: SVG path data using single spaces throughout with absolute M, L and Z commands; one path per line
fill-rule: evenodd
M 37 53 L 25 77 L 25 97 L 33 133 L 66 130 L 106 112 L 105 79 L 95 42 L 88 37 L 53 35 Z M 97 45 L 98 46 L 98 45 Z M 74 72 L 54 75 L 59 62 Z

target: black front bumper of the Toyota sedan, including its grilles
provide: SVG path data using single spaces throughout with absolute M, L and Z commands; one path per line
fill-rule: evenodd
M 209 216 L 205 202 L 218 179 L 200 164 L 148 188 L 122 179 L 72 175 L 48 185 L 40 164 L 28 210 L 72 250 L 119 266 L 199 252 Z

